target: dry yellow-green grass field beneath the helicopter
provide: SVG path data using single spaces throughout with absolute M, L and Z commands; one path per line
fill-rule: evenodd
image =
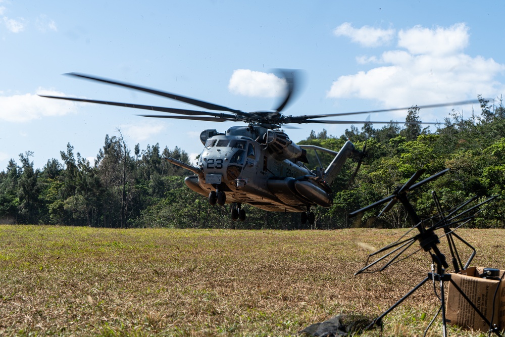
M 403 232 L 3 225 L 0 335 L 285 336 L 340 313 L 376 316 L 431 260 L 419 252 L 354 276 L 369 253 L 359 243 L 380 248 Z M 477 249 L 472 265 L 505 267 L 503 233 L 459 230 Z M 386 316 L 382 335 L 422 335 L 436 305 L 425 284 Z M 428 335 L 441 335 L 440 325 Z

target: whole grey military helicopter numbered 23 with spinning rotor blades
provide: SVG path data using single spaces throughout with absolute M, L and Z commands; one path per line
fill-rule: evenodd
M 287 83 L 285 97 L 280 105 L 271 111 L 243 112 L 228 107 L 208 103 L 182 95 L 160 91 L 143 86 L 95 77 L 81 73 L 67 75 L 121 86 L 133 90 L 148 92 L 168 99 L 176 100 L 210 111 L 197 111 L 129 103 L 109 102 L 41 95 L 41 97 L 105 104 L 135 109 L 144 109 L 174 115 L 140 115 L 151 118 L 187 119 L 211 122 L 244 122 L 247 125 L 232 126 L 225 133 L 215 129 L 204 130 L 200 141 L 204 145 L 196 166 L 183 163 L 173 158 L 167 160 L 185 168 L 193 175 L 187 176 L 185 184 L 193 191 L 209 198 L 211 205 L 231 206 L 231 219 L 244 221 L 246 218 L 243 204 L 274 212 L 300 213 L 302 224 L 314 224 L 315 215 L 311 208 L 315 206 L 330 207 L 333 203 L 331 184 L 340 172 L 345 161 L 351 157 L 358 159 L 358 167 L 364 157 L 365 149 L 358 151 L 347 141 L 339 152 L 315 146 L 296 145 L 281 130 L 286 124 L 364 124 L 390 123 L 371 121 L 323 120 L 321 118 L 346 116 L 354 114 L 407 110 L 409 108 L 362 111 L 351 113 L 334 113 L 324 115 L 285 116 L 281 111 L 290 103 L 296 85 L 297 71 L 278 70 Z M 440 105 L 423 106 L 432 108 L 457 104 L 470 104 L 477 101 L 465 101 Z M 408 122 L 407 122 L 408 123 Z M 412 122 L 419 124 L 420 122 Z M 423 123 L 435 124 L 435 123 Z M 315 150 L 320 167 L 310 170 L 306 164 L 307 150 Z M 323 168 L 317 151 L 333 155 L 332 162 Z M 357 167 L 357 168 L 358 168 Z

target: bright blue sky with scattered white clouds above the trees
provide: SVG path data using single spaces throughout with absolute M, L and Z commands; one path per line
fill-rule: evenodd
M 26 151 L 42 168 L 61 160 L 69 142 L 91 160 L 118 129 L 131 149 L 160 143 L 197 154 L 202 130 L 233 125 L 148 119 L 133 109 L 37 96 L 194 108 L 62 76 L 74 71 L 254 111 L 278 103 L 273 69 L 301 69 L 302 90 L 286 115 L 497 98 L 505 92 L 504 10 L 501 1 L 0 0 L 0 170 Z M 468 116 L 472 107 L 456 109 Z M 421 119 L 449 112 L 422 110 Z M 370 118 L 401 122 L 405 114 Z M 351 119 L 358 118 L 367 116 Z M 339 136 L 350 125 L 287 131 L 299 141 L 323 127 Z

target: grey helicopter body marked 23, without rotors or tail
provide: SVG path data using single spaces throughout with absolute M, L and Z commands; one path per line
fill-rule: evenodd
M 250 204 L 267 211 L 305 212 L 314 205 L 331 206 L 331 189 L 322 178 L 296 158 L 279 159 L 295 150 L 279 151 L 273 143 L 260 140 L 268 140 L 270 131 L 232 127 L 226 134 L 205 139 L 193 170 L 197 174 L 186 177 L 186 185 L 203 196 L 213 191 L 224 194 L 222 203 Z M 282 143 L 299 149 L 289 138 Z

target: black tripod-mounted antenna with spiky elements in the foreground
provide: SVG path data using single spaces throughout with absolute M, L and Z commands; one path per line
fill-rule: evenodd
M 477 312 L 477 314 L 486 322 L 486 324 L 489 325 L 489 332 L 495 333 L 497 336 L 501 337 L 500 330 L 496 326 L 496 324 L 491 324 L 491 322 L 484 316 L 484 314 L 475 306 L 475 304 L 468 298 L 468 296 L 461 290 L 461 288 L 451 279 L 451 274 L 450 273 L 445 273 L 445 269 L 448 268 L 448 263 L 445 259 L 445 255 L 440 252 L 438 249 L 437 245 L 440 244 L 440 237 L 446 236 L 447 237 L 447 243 L 449 246 L 449 251 L 451 254 L 451 262 L 452 265 L 455 269 L 455 272 L 460 272 L 462 269 L 467 269 L 468 266 L 470 265 L 470 262 L 474 258 L 476 252 L 475 248 L 473 248 L 469 243 L 467 243 L 463 238 L 461 238 L 459 235 L 455 233 L 455 230 L 460 228 L 461 226 L 467 224 L 468 222 L 472 221 L 476 215 L 481 212 L 484 208 L 482 206 L 486 205 L 490 201 L 494 200 L 497 196 L 493 196 L 491 198 L 488 198 L 484 200 L 483 202 L 478 203 L 475 206 L 470 207 L 469 205 L 476 201 L 478 197 L 473 197 L 470 198 L 469 200 L 463 202 L 457 207 L 454 207 L 448 211 L 443 211 L 442 207 L 440 205 L 440 201 L 438 199 L 438 196 L 435 191 L 432 191 L 432 198 L 435 203 L 436 209 L 438 214 L 435 216 L 426 219 L 426 220 L 421 220 L 421 218 L 417 215 L 414 207 L 411 205 L 409 199 L 407 198 L 407 193 L 419 186 L 424 185 L 425 183 L 432 181 L 441 175 L 447 173 L 449 169 L 445 169 L 443 171 L 440 171 L 418 183 L 415 183 L 417 179 L 421 177 L 421 175 L 425 172 L 425 170 L 419 170 L 414 175 L 403 185 L 403 186 L 398 186 L 394 191 L 393 194 L 390 195 L 387 198 L 384 198 L 382 200 L 379 200 L 367 207 L 364 207 L 362 209 L 359 209 L 355 212 L 352 212 L 349 214 L 349 216 L 356 216 L 358 214 L 363 214 L 363 212 L 374 208 L 376 206 L 382 205 L 386 202 L 388 204 L 386 207 L 380 212 L 379 216 L 384 213 L 389 211 L 396 202 L 400 202 L 402 206 L 405 208 L 407 213 L 409 214 L 409 217 L 414 223 L 414 226 L 407 231 L 407 233 L 403 234 L 398 240 L 396 240 L 394 243 L 387 245 L 376 252 L 370 254 L 368 256 L 368 260 L 366 262 L 366 266 L 360 269 L 358 272 L 356 272 L 355 275 L 361 274 L 361 273 L 366 273 L 366 272 L 375 272 L 375 271 L 382 271 L 388 266 L 398 263 L 399 261 L 403 261 L 410 256 L 414 255 L 415 253 L 424 250 L 425 252 L 429 252 L 431 259 L 432 259 L 432 272 L 428 273 L 428 276 L 423 279 L 418 285 L 416 285 L 409 293 L 407 293 L 405 296 L 403 296 L 401 299 L 399 299 L 394 305 L 392 305 L 388 310 L 386 310 L 384 313 L 382 313 L 379 317 L 374 319 L 374 321 L 367 327 L 367 329 L 372 328 L 375 325 L 380 325 L 382 326 L 382 319 L 389 313 L 391 312 L 394 308 L 396 308 L 400 303 L 402 303 L 405 299 L 407 299 L 410 295 L 412 295 L 418 288 L 420 288 L 424 283 L 426 283 L 428 280 L 432 280 L 435 286 L 435 281 L 439 282 L 439 287 L 440 287 L 440 296 L 438 296 L 435 292 L 435 295 L 438 297 L 440 300 L 440 308 L 438 312 L 435 314 L 431 322 L 429 323 L 428 327 L 426 328 L 425 335 L 428 331 L 428 329 L 431 327 L 433 324 L 435 318 L 442 313 L 442 326 L 443 326 L 443 335 L 444 337 L 447 335 L 447 327 L 446 327 L 446 319 L 445 319 L 445 296 L 444 296 L 444 282 L 450 282 L 454 287 L 457 292 L 459 292 L 462 297 L 470 304 L 470 306 Z M 426 226 L 426 223 L 432 223 L 431 226 Z M 411 233 L 412 230 L 417 228 L 419 231 L 418 234 L 415 234 L 412 237 L 406 238 L 409 233 Z M 443 234 L 439 237 L 435 231 L 443 229 Z M 455 238 L 458 239 L 461 243 L 466 245 L 472 250 L 472 253 L 466 262 L 465 265 L 463 265 L 461 261 L 460 254 L 458 253 L 456 243 L 455 243 Z M 418 250 L 415 250 L 411 254 L 407 254 L 406 252 L 409 250 L 409 248 L 415 243 L 419 242 L 420 248 Z M 382 255 L 381 255 L 382 254 Z M 379 257 L 377 257 L 379 256 Z M 375 258 L 373 262 L 370 263 L 370 259 Z M 380 266 L 378 270 L 371 271 L 372 267 L 374 266 Z M 436 268 L 435 268 L 436 266 Z M 435 289 L 435 287 L 434 287 Z

